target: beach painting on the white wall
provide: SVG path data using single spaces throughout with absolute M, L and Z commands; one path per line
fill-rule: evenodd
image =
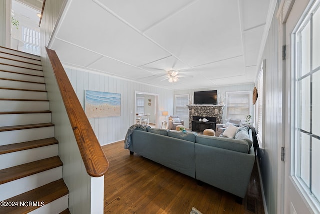
M 121 94 L 85 90 L 88 118 L 121 116 Z

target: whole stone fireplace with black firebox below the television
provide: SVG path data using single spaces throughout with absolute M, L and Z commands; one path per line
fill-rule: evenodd
M 223 107 L 223 105 L 188 105 L 189 128 L 198 132 L 202 132 L 206 128 L 215 131 L 215 125 L 223 123 Z M 199 119 L 203 118 L 209 121 L 200 122 Z

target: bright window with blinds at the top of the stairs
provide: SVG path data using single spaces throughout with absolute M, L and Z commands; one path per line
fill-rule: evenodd
M 22 26 L 23 51 L 40 55 L 40 32 Z

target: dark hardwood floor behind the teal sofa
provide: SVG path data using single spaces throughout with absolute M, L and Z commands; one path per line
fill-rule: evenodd
M 237 197 L 198 185 L 183 175 L 124 149 L 123 141 L 102 147 L 110 167 L 105 175 L 104 213 L 264 213 L 256 164 L 242 204 Z

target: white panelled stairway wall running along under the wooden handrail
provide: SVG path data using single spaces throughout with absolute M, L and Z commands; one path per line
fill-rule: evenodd
M 40 26 L 41 60 L 52 111 L 54 136 L 59 141 L 58 154 L 63 162 L 63 180 L 69 189 L 69 210 L 71 213 L 103 213 L 103 177 L 90 177 L 83 164 L 73 130 L 60 96 L 48 56 L 44 49 L 60 16 L 65 0 L 46 0 Z M 99 190 L 97 190 L 99 186 Z M 92 200 L 92 195 L 94 200 Z

